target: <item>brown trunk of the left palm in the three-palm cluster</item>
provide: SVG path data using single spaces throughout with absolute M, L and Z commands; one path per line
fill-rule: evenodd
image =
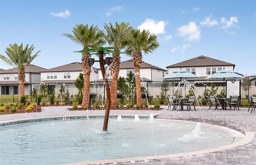
M 90 92 L 90 66 L 88 65 L 88 58 L 90 53 L 82 53 L 82 70 L 84 73 L 84 88 L 83 88 L 83 100 L 82 108 L 89 107 L 89 92 Z

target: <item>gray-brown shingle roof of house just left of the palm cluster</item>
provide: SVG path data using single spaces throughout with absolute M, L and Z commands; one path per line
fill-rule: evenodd
M 96 68 L 92 67 L 94 71 L 98 72 Z M 72 62 L 70 64 L 51 68 L 42 72 L 68 72 L 68 71 L 82 71 L 82 64 L 80 62 Z

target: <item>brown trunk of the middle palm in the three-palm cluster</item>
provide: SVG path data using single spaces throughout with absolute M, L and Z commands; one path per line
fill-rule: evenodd
M 117 80 L 118 80 L 118 74 L 120 71 L 120 54 L 113 54 L 112 55 L 113 60 L 111 64 L 111 106 L 110 109 L 116 109 L 117 107 Z

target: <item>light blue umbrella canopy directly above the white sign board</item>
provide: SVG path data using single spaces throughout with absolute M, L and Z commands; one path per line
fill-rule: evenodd
M 231 72 L 230 70 L 225 70 L 225 68 L 219 72 L 216 72 L 215 74 L 212 74 L 211 76 L 208 76 L 205 79 L 225 79 L 225 78 L 242 78 L 239 74 L 235 74 L 234 72 Z

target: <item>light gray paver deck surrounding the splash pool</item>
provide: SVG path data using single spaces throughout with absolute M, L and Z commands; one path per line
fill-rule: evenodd
M 161 119 L 178 119 L 184 121 L 195 121 L 201 123 L 208 123 L 219 125 L 234 129 L 246 135 L 250 142 L 240 142 L 239 145 L 230 145 L 230 147 L 218 151 L 207 150 L 202 152 L 204 156 L 200 157 L 186 157 L 185 155 L 170 155 L 170 156 L 156 156 L 146 157 L 149 162 L 132 163 L 134 165 L 256 165 L 256 111 L 248 112 L 248 108 L 240 107 L 240 111 L 210 109 L 208 107 L 196 107 L 196 111 L 167 111 L 168 106 L 161 106 L 161 110 L 110 110 L 110 115 L 122 114 L 137 114 L 150 115 L 153 113 L 155 118 Z M 42 107 L 42 112 L 39 113 L 20 113 L 10 115 L 0 115 L 0 123 L 6 121 L 17 121 L 20 119 L 31 119 L 40 117 L 56 117 L 56 116 L 70 116 L 70 115 L 86 115 L 86 111 L 69 111 L 68 106 L 57 107 Z M 186 109 L 186 108 L 185 108 Z M 89 110 L 89 115 L 104 115 L 105 110 Z M 248 139 L 247 138 L 247 139 Z M 245 138 L 244 138 L 245 139 Z M 194 152 L 195 154 L 198 154 Z M 188 153 L 187 153 L 188 154 Z M 193 154 L 190 154 L 193 155 Z M 141 158 L 140 158 L 141 159 Z M 122 159 L 128 161 L 131 159 Z M 113 160 L 113 162 L 120 160 Z M 94 162 L 80 162 L 70 163 L 66 165 L 86 165 L 97 163 L 110 163 L 111 161 L 94 161 Z

